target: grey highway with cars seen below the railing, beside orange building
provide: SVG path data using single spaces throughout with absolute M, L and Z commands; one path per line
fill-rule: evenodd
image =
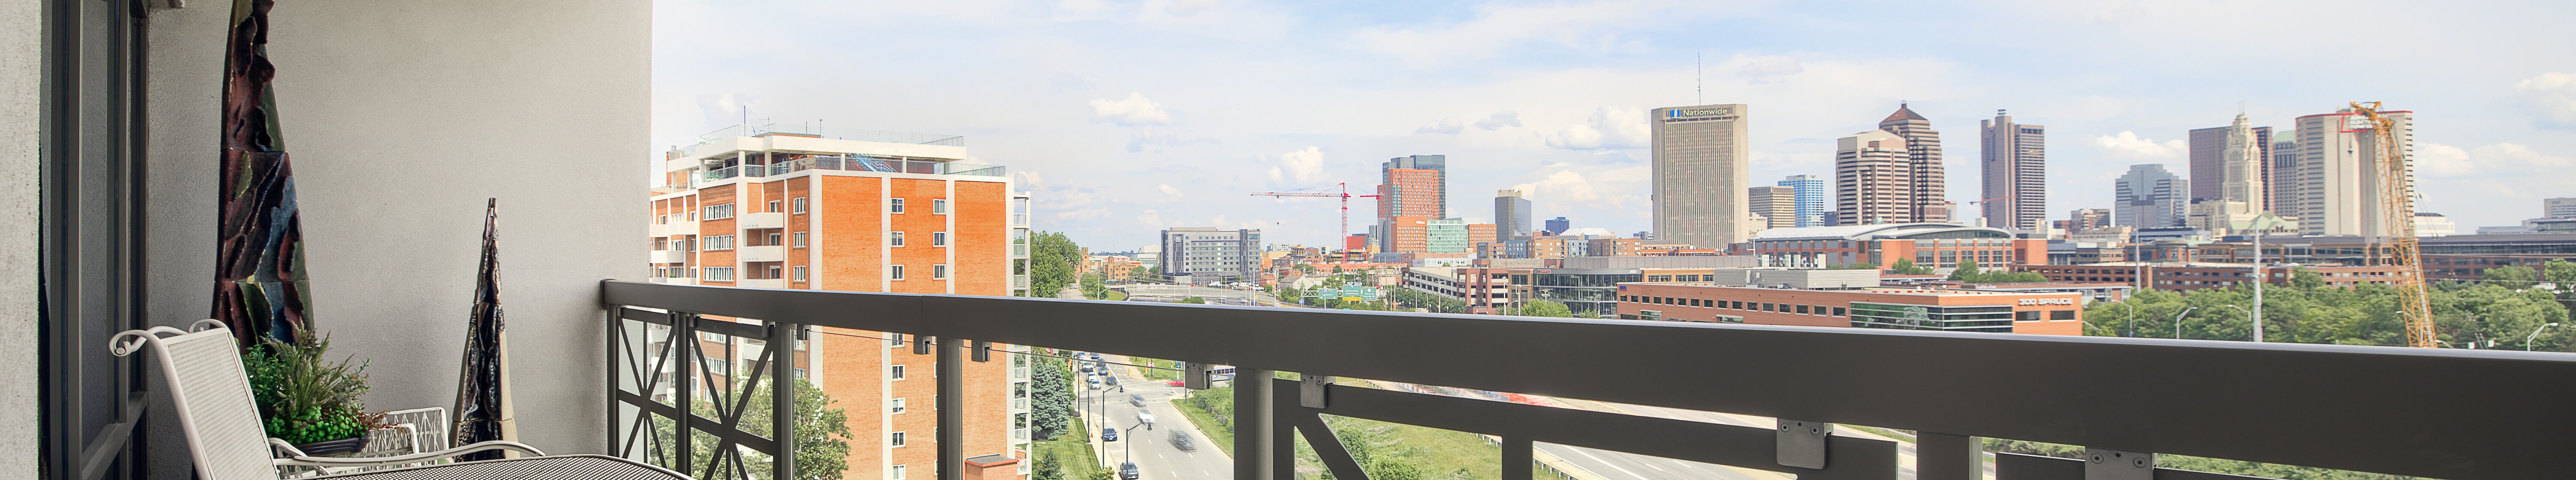
M 1108 361 L 1126 361 L 1126 356 L 1103 356 Z M 1087 423 L 1118 426 L 1118 441 L 1097 441 L 1103 467 L 1118 467 L 1118 462 L 1136 462 L 1139 480 L 1224 480 L 1234 477 L 1234 459 L 1208 441 L 1206 431 L 1190 426 L 1188 418 L 1172 408 L 1172 397 L 1188 392 L 1182 387 L 1164 385 L 1159 379 L 1144 379 L 1136 369 L 1123 364 L 1110 364 L 1110 374 L 1126 387 L 1082 390 L 1074 405 L 1084 408 Z M 1136 405 L 1128 395 L 1144 397 L 1144 408 L 1154 413 L 1154 428 L 1136 428 Z M 1105 423 L 1097 418 L 1108 418 Z M 1172 431 L 1190 434 L 1195 449 L 1180 449 L 1172 444 Z

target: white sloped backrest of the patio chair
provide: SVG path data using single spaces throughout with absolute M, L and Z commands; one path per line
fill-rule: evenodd
M 178 333 L 178 335 L 160 335 Z M 260 428 L 260 405 L 250 397 L 250 377 L 242 369 L 242 348 L 229 328 L 180 333 L 178 328 L 129 330 L 160 354 L 160 369 L 170 379 L 170 405 L 178 410 L 180 431 L 188 436 L 188 454 L 204 480 L 278 480 L 270 465 L 268 431 Z M 113 341 L 111 341 L 113 343 Z M 111 346 L 118 356 L 129 346 Z

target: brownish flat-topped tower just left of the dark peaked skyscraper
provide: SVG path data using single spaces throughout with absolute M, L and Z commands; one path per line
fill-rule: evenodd
M 1834 222 L 1914 222 L 1914 163 L 1906 139 L 1870 129 L 1834 139 Z

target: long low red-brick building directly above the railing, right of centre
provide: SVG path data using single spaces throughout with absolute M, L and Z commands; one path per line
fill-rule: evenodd
M 2084 335 L 2084 294 L 1620 284 L 1618 317 L 1808 328 Z

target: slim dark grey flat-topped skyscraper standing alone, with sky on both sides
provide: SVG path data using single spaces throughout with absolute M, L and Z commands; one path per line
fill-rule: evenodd
M 2048 219 L 2048 126 L 2012 124 L 2004 111 L 1976 126 L 1986 227 L 2038 230 Z

